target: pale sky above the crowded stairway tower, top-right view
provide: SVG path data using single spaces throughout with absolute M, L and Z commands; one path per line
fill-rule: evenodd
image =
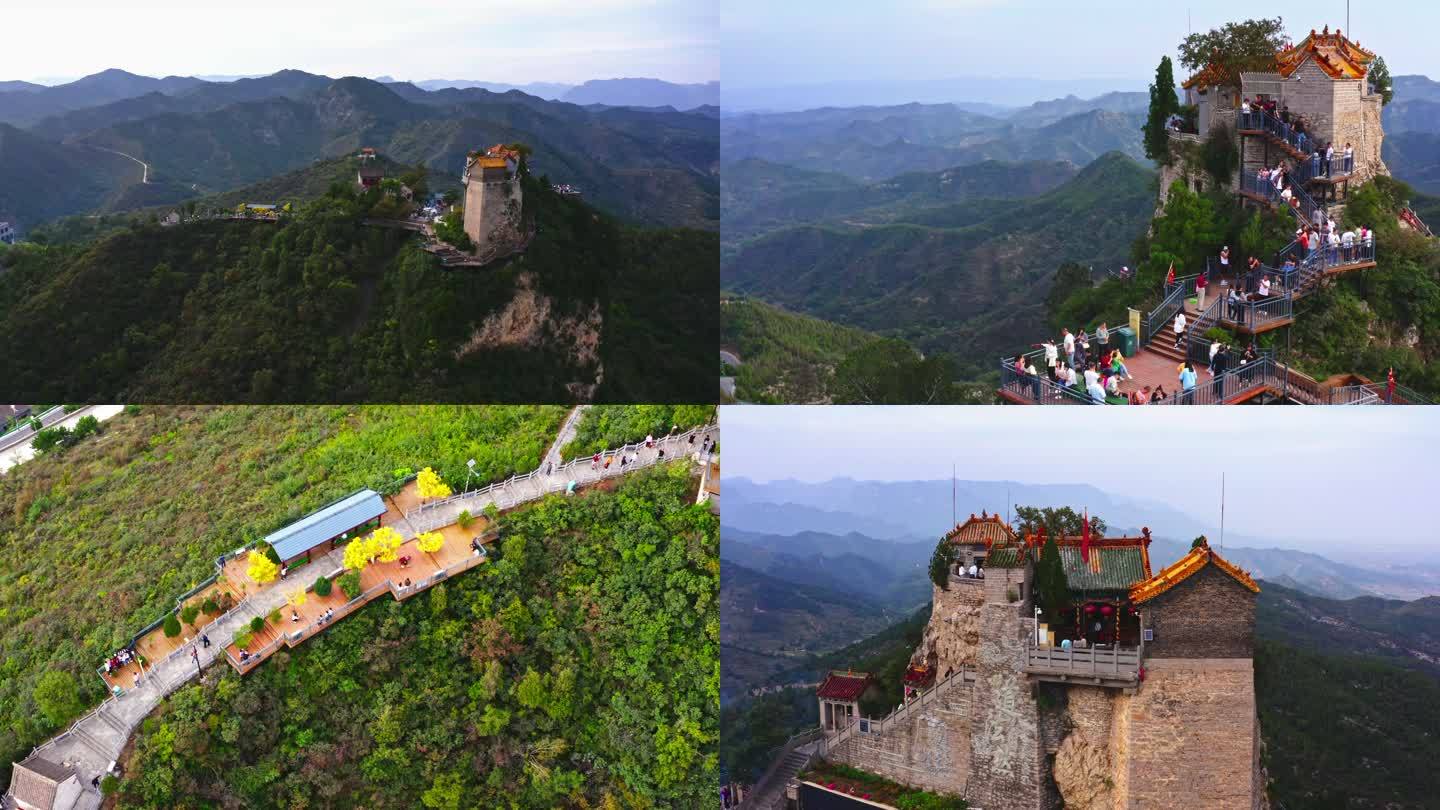
M 1194 30 L 1274 16 L 1296 39 L 1312 27 L 1346 27 L 1345 0 L 727 0 L 720 16 L 723 81 L 752 88 L 1017 76 L 1143 86 L 1162 55 L 1175 56 L 1187 10 Z M 1384 56 L 1391 74 L 1440 76 L 1440 3 L 1354 0 L 1351 22 L 1352 35 Z

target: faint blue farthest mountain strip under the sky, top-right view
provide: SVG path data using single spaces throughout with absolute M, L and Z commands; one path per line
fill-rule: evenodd
M 1047 98 L 1081 98 L 1112 91 L 1143 91 L 1148 79 L 1028 79 L 960 76 L 952 79 L 865 79 L 780 86 L 726 85 L 727 110 L 789 111 L 815 107 L 860 107 L 919 101 L 959 104 L 981 112 L 1001 112 Z

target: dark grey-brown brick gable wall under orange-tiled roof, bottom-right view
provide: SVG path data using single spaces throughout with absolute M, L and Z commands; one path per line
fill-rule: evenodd
M 1207 565 L 1140 605 L 1145 643 L 1153 659 L 1250 659 L 1254 650 L 1256 595 L 1228 574 Z

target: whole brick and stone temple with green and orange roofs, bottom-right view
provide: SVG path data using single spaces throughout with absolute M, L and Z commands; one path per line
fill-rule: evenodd
M 972 515 L 942 540 L 956 564 L 904 702 L 867 718 L 873 676 L 831 672 L 815 751 L 986 810 L 1264 807 L 1247 572 L 1204 538 L 1155 572 L 1148 529 L 1056 536 L 1066 588 L 1047 615 L 1044 532 Z

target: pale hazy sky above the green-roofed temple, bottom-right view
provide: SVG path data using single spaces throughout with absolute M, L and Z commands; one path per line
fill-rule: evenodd
M 965 480 L 1093 483 L 1218 523 L 1224 471 L 1236 532 L 1440 553 L 1434 408 L 727 405 L 720 419 L 726 477 L 937 480 L 953 463 Z

